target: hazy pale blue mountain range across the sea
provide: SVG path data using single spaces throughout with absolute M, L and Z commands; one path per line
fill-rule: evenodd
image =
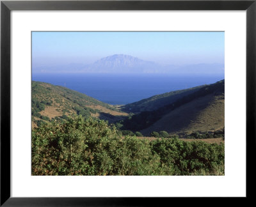
M 115 54 L 103 57 L 95 63 L 84 65 L 71 63 L 68 65 L 37 66 L 33 72 L 44 73 L 169 73 L 169 74 L 216 74 L 224 73 L 223 64 L 196 64 L 196 65 L 160 65 L 153 61 L 145 61 L 138 57 L 125 54 Z

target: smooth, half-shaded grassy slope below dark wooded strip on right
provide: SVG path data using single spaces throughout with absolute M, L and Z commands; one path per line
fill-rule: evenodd
M 191 134 L 221 130 L 225 125 L 224 108 L 223 95 L 202 96 L 164 115 L 141 133 L 149 135 L 164 130 L 169 134 Z

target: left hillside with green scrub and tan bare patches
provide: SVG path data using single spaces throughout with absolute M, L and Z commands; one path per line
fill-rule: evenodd
M 68 116 L 81 115 L 105 119 L 110 122 L 127 116 L 116 107 L 105 104 L 71 89 L 45 82 L 31 83 L 32 124 L 36 127 L 42 121 L 64 120 Z

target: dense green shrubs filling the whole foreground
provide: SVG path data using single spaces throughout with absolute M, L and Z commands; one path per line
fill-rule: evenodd
M 33 175 L 223 175 L 224 144 L 123 137 L 78 116 L 32 130 L 31 166 Z

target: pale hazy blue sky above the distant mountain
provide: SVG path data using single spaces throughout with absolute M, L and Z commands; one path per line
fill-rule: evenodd
M 224 32 L 33 32 L 33 66 L 127 54 L 161 64 L 224 63 Z

